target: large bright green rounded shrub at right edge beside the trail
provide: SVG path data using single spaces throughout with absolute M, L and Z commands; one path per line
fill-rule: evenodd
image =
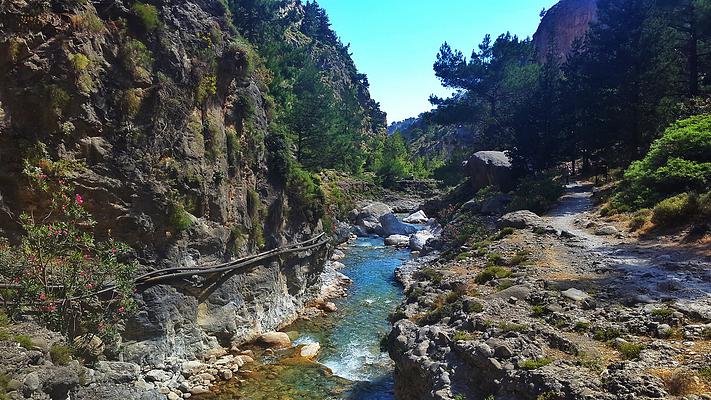
M 672 124 L 644 159 L 630 165 L 612 203 L 636 210 L 677 194 L 707 192 L 709 185 L 711 115 L 698 115 Z

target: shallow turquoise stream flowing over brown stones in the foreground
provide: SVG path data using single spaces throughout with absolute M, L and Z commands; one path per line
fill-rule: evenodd
M 393 365 L 380 340 L 390 331 L 388 315 L 402 300 L 395 268 L 409 259 L 409 251 L 385 247 L 381 238 L 357 239 L 342 260 L 341 272 L 353 285 L 335 301 L 338 311 L 285 329 L 297 345 L 320 343 L 316 362 L 293 357 L 293 350 L 262 353 L 241 384 L 214 398 L 394 399 Z

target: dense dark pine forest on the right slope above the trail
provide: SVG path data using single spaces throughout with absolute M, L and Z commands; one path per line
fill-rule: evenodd
M 435 109 L 403 126 L 414 152 L 410 159 L 430 166 L 431 176 L 451 179 L 473 151 L 507 150 L 519 176 L 566 162 L 568 173 L 606 176 L 642 159 L 674 121 L 711 110 L 709 1 L 601 0 L 596 19 L 568 54 L 548 47 L 550 54 L 538 54 L 546 50 L 531 39 L 487 35 L 466 57 L 444 43 L 434 72 L 455 93 L 431 97 Z M 462 129 L 466 140 L 453 139 Z M 705 135 L 695 131 L 679 140 Z M 447 140 L 470 146 L 457 151 L 442 145 Z M 668 155 L 674 166 L 657 174 L 655 190 L 708 190 L 706 147 L 697 156 L 680 149 Z M 628 180 L 640 174 L 638 168 Z M 659 175 L 671 170 L 674 176 Z M 617 206 L 653 205 L 631 197 L 618 196 Z

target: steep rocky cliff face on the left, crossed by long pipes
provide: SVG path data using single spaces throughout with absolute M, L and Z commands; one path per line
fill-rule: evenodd
M 78 190 L 99 234 L 130 244 L 145 269 L 210 264 L 322 231 L 293 211 L 268 162 L 265 71 L 224 2 L 3 0 L 0 37 L 2 236 L 36 207 L 21 171 L 38 142 L 82 164 Z M 126 357 L 193 358 L 289 322 L 323 268 L 324 254 L 303 256 L 216 289 L 142 291 Z

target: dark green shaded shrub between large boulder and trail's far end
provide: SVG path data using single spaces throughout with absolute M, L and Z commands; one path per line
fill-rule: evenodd
M 563 186 L 550 176 L 526 177 L 513 192 L 509 209 L 544 213 L 553 207 L 562 194 Z

